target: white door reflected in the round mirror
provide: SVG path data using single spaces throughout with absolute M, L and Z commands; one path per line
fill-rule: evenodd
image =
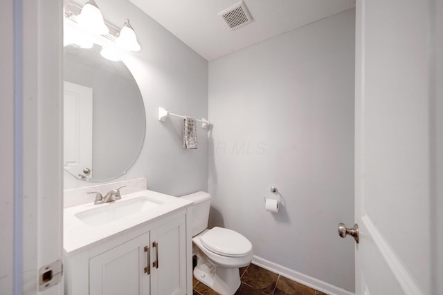
M 75 177 L 92 178 L 92 99 L 92 88 L 64 82 L 63 165 Z

